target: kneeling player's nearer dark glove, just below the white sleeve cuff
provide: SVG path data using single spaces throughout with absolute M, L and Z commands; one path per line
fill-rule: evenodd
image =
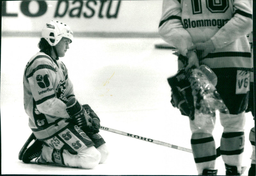
M 66 111 L 73 122 L 84 132 L 90 131 L 92 128 L 92 118 L 87 115 L 83 106 L 77 102 L 76 98 L 70 98 L 66 105 Z

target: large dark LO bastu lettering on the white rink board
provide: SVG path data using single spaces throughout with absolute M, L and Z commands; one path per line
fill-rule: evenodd
M 2 2 L 2 17 L 18 17 L 18 11 L 13 12 L 9 2 Z M 89 0 L 89 1 L 20 1 L 20 11 L 27 17 L 41 17 L 54 7 L 54 18 L 117 18 L 121 0 Z M 32 11 L 37 9 L 37 11 Z M 12 11 L 12 12 L 10 12 Z M 52 9 L 51 9 L 52 11 Z

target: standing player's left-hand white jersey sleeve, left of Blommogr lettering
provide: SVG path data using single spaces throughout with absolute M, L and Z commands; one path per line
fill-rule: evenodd
M 192 38 L 181 22 L 179 0 L 163 0 L 158 32 L 164 41 L 177 48 L 184 56 L 187 54 L 187 48 L 193 46 Z

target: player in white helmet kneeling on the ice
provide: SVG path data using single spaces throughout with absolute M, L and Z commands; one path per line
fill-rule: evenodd
M 70 27 L 60 21 L 44 25 L 38 43 L 40 51 L 24 70 L 24 108 L 33 131 L 19 159 L 29 163 L 57 163 L 90 169 L 108 156 L 104 139 L 98 134 L 100 119 L 89 105 L 81 105 L 73 92 L 64 57 L 73 40 Z

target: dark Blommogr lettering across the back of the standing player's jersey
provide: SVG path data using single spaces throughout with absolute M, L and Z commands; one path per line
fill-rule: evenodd
M 220 29 L 224 26 L 229 19 L 199 19 L 199 20 L 191 20 L 183 19 L 183 26 L 185 29 L 187 28 L 196 28 L 196 27 L 209 27 L 209 26 L 218 26 Z

